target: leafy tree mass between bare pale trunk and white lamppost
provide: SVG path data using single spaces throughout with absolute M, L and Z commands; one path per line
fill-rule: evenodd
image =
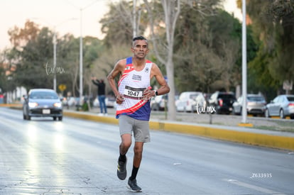
M 234 89 L 241 77 L 241 23 L 221 9 L 207 17 L 182 9 L 175 42 L 179 91 Z

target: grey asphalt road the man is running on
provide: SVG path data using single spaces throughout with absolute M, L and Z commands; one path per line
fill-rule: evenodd
M 117 126 L 22 118 L 0 108 L 0 194 L 134 194 L 116 177 Z M 141 194 L 294 194 L 293 162 L 293 152 L 151 131 L 137 180 Z

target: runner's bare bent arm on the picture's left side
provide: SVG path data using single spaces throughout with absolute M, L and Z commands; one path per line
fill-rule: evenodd
M 117 62 L 116 65 L 114 65 L 114 69 L 112 69 L 111 72 L 107 76 L 107 80 L 109 82 L 109 85 L 110 85 L 112 91 L 114 92 L 114 95 L 116 96 L 116 103 L 117 104 L 121 104 L 124 101 L 124 96 L 119 94 L 119 90 L 116 87 L 116 83 L 115 83 L 114 78 L 117 75 L 123 74 L 125 65 L 126 65 L 126 60 L 119 60 L 119 62 Z

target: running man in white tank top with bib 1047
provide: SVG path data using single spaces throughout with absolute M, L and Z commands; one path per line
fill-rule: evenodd
M 132 57 L 119 60 L 111 70 L 107 79 L 116 96 L 116 118 L 119 118 L 121 144 L 119 145 L 119 160 L 117 177 L 126 179 L 126 152 L 131 147 L 131 136 L 134 133 L 134 160 L 128 187 L 131 191 L 141 191 L 136 181 L 136 175 L 141 165 L 143 143 L 150 142 L 149 119 L 151 114 L 150 99 L 167 94 L 170 91 L 158 66 L 146 60 L 148 40 L 143 36 L 133 39 L 131 45 Z M 116 87 L 114 78 L 119 76 Z M 151 79 L 155 77 L 160 85 L 157 90 L 151 89 Z

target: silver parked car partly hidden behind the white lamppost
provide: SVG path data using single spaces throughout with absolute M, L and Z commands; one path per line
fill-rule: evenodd
M 258 94 L 247 94 L 246 99 L 247 113 L 257 116 L 258 114 L 264 114 L 266 111 L 266 99 L 262 95 Z M 240 115 L 242 113 L 243 96 L 240 96 L 237 101 L 233 104 L 233 113 Z

